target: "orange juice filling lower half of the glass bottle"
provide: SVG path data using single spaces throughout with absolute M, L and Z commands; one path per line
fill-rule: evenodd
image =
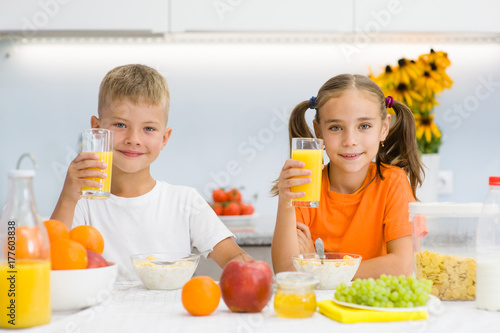
M 50 322 L 50 261 L 0 262 L 0 327 L 23 328 Z

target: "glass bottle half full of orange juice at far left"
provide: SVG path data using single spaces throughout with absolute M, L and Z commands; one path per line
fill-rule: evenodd
M 0 217 L 0 327 L 50 322 L 50 250 L 33 196 L 34 170 L 8 172 Z

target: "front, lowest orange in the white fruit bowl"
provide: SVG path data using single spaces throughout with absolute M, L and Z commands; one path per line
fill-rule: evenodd
M 50 244 L 52 269 L 85 269 L 88 264 L 87 250 L 82 244 L 70 239 L 57 239 Z

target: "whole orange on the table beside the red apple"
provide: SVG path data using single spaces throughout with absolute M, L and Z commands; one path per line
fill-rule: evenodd
M 182 305 L 193 316 L 207 316 L 217 309 L 220 288 L 208 276 L 197 276 L 182 287 Z

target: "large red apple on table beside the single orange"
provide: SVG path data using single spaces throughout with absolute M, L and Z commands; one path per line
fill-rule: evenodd
M 219 287 L 222 299 L 233 312 L 260 312 L 272 295 L 273 273 L 260 260 L 233 260 L 222 270 Z

